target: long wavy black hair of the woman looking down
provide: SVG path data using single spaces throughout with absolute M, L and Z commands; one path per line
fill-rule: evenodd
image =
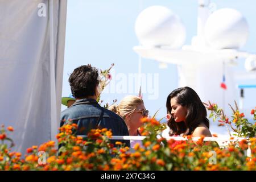
M 192 88 L 185 86 L 172 91 L 166 101 L 167 114 L 171 114 L 171 99 L 176 98 L 177 104 L 187 107 L 185 122 L 175 122 L 174 117 L 168 120 L 170 135 L 191 135 L 200 123 L 204 123 L 209 129 L 209 119 L 207 119 L 207 110 L 201 102 L 199 96 Z

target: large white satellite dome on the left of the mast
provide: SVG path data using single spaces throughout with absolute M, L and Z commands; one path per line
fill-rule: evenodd
M 143 46 L 171 48 L 181 47 L 186 34 L 180 18 L 164 6 L 143 10 L 135 22 L 135 33 Z

